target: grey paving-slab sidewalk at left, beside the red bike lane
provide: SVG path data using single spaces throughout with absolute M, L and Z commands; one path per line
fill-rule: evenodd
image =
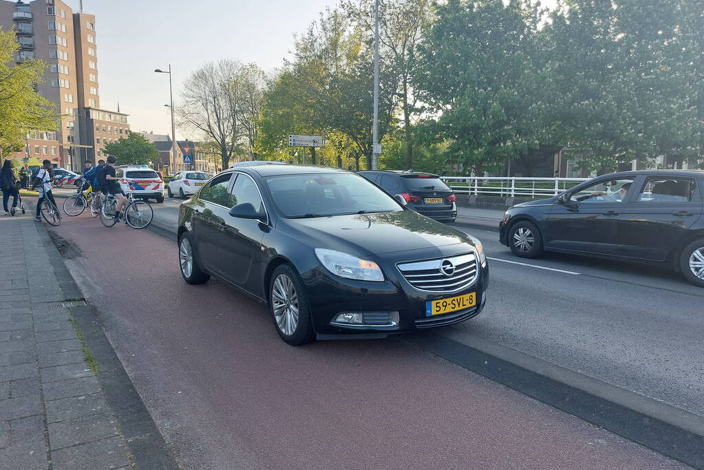
M 82 300 L 62 288 L 44 227 L 32 211 L 0 215 L 0 469 L 127 467 L 130 452 L 68 310 Z

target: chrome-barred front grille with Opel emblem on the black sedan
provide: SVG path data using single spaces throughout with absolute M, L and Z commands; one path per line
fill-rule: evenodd
M 453 292 L 471 286 L 477 280 L 474 253 L 433 260 L 403 262 L 398 270 L 411 286 L 421 291 Z

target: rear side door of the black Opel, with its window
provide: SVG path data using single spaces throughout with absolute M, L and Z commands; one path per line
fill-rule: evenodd
M 196 239 L 198 261 L 209 272 L 218 272 L 218 239 L 225 224 L 227 200 L 229 198 L 232 173 L 221 174 L 213 179 L 194 201 L 192 225 Z

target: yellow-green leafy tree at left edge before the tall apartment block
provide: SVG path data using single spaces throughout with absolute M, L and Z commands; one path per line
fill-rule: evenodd
M 21 146 L 27 132 L 54 131 L 59 122 L 54 105 L 34 89 L 42 81 L 46 63 L 28 60 L 8 65 L 19 49 L 15 33 L 0 28 L 0 155 L 4 148 Z

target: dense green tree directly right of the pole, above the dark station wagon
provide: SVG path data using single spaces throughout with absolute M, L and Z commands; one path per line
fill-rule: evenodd
M 448 157 L 477 174 L 537 148 L 549 127 L 540 15 L 518 0 L 448 0 L 418 46 L 413 84 L 432 116 L 422 138 L 447 141 Z

